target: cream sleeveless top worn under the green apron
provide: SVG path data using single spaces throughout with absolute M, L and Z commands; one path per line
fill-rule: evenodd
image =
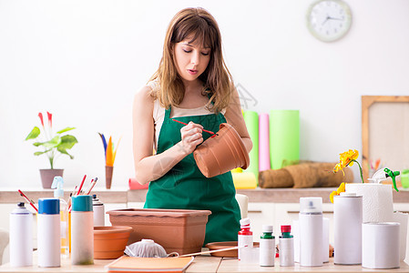
M 148 86 L 155 90 L 158 88 L 158 81 L 150 81 L 148 82 Z M 226 109 L 221 111 L 221 114 L 225 114 Z M 172 111 L 170 112 L 170 118 L 172 117 L 179 117 L 179 116 L 201 116 L 201 115 L 210 115 L 213 114 L 206 106 L 200 106 L 197 108 L 179 108 L 176 106 L 172 106 Z M 153 120 L 155 122 L 155 139 L 154 139 L 154 148 L 158 150 L 158 139 L 160 134 L 160 128 L 162 127 L 163 120 L 165 118 L 165 108 L 160 106 L 158 99 L 156 99 L 153 103 Z

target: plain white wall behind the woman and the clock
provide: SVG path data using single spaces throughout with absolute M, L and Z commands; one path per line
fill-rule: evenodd
M 97 132 L 122 136 L 113 187 L 126 186 L 133 96 L 158 67 L 169 20 L 187 6 L 218 20 L 230 72 L 256 98 L 248 109 L 300 109 L 302 159 L 361 152 L 361 96 L 409 95 L 409 1 L 346 2 L 350 32 L 322 43 L 305 25 L 310 0 L 0 0 L 0 186 L 40 187 L 48 162 L 24 141 L 39 111 L 54 114 L 56 129 L 77 127 L 75 159 L 56 160 L 68 187 L 85 174 L 103 180 Z

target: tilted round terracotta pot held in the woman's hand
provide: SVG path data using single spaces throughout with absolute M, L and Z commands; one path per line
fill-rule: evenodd
M 234 127 L 222 123 L 218 135 L 208 138 L 193 152 L 201 173 L 215 177 L 236 167 L 249 167 L 249 154 Z

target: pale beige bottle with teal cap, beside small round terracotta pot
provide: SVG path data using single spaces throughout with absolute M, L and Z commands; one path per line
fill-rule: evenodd
M 73 265 L 94 264 L 94 216 L 92 197 L 72 197 L 71 262 Z

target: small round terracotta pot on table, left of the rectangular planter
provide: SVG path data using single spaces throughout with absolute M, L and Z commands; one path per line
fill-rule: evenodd
M 94 227 L 94 258 L 119 258 L 124 255 L 132 227 Z

